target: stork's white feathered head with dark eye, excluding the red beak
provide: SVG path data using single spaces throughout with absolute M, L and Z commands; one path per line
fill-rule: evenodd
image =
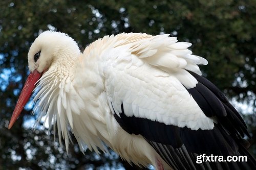
M 63 61 L 64 56 L 74 57 L 78 53 L 80 51 L 73 38 L 65 33 L 45 31 L 35 39 L 30 47 L 29 70 L 44 72 L 57 59 Z

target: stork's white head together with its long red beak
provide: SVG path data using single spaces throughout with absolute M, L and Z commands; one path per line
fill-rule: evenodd
M 77 43 L 65 33 L 45 31 L 32 43 L 28 53 L 30 74 L 20 93 L 10 120 L 9 129 L 28 102 L 36 82 L 54 63 L 65 65 L 80 54 Z

